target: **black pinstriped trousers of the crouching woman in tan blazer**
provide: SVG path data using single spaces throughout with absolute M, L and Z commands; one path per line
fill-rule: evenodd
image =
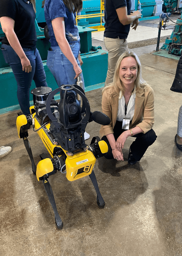
M 122 122 L 116 121 L 116 124 L 114 126 L 114 138 L 115 140 L 118 139 L 118 137 L 126 130 L 121 129 L 122 128 Z M 145 151 L 148 149 L 150 145 L 154 143 L 156 140 L 157 136 L 155 135 L 155 132 L 153 129 L 150 131 L 144 133 L 138 133 L 136 135 L 133 135 L 135 137 L 135 141 L 130 146 L 131 152 L 133 157 L 135 158 L 136 161 L 140 161 L 142 156 L 144 155 Z M 106 136 L 102 137 L 102 140 L 104 140 L 108 144 L 108 153 L 105 154 L 105 158 L 107 159 L 112 159 L 112 149 L 109 144 L 109 141 Z

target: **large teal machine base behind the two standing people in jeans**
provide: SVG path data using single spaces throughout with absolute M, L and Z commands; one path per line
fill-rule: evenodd
M 57 83 L 48 67 L 46 66 L 47 51 L 50 43 L 44 37 L 43 28 L 45 27 L 44 12 L 41 8 L 42 0 L 36 1 L 36 33 L 37 33 L 37 48 L 43 61 L 45 74 L 48 85 L 54 90 L 58 87 Z M 81 57 L 83 60 L 82 71 L 84 76 L 85 91 L 93 90 L 103 86 L 108 69 L 108 52 L 103 51 L 100 46 L 92 46 L 91 32 L 95 29 L 85 26 L 78 26 L 81 44 Z M 0 24 L 0 38 L 4 36 Z M 0 42 L 1 47 L 1 42 Z M 11 68 L 5 63 L 2 52 L 0 51 L 0 83 L 1 83 L 1 100 L 0 114 L 19 109 L 19 104 L 16 96 L 17 83 L 12 73 Z M 32 88 L 35 87 L 32 82 Z M 32 95 L 30 94 L 30 99 Z M 56 99 L 56 97 L 55 97 Z M 33 104 L 33 102 L 31 102 Z

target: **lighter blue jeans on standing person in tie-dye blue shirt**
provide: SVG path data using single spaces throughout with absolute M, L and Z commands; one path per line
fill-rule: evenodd
M 65 57 L 59 46 L 53 46 L 51 48 L 52 51 L 48 51 L 47 66 L 53 74 L 58 86 L 61 87 L 62 84 L 77 84 L 77 79 L 74 79 L 75 71 L 71 62 L 67 59 L 67 57 Z M 70 48 L 75 59 L 77 60 L 78 65 L 80 66 L 80 62 L 78 60 L 80 42 L 71 43 Z M 83 74 L 81 74 L 81 76 L 83 81 L 83 89 L 85 89 Z

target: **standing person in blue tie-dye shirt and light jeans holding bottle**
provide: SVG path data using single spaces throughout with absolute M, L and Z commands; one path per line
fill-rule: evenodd
M 76 25 L 76 12 L 82 9 L 82 0 L 44 0 L 45 21 L 49 29 L 47 66 L 60 87 L 62 84 L 76 84 L 77 77 L 84 80 L 80 57 L 80 36 Z M 85 132 L 84 138 L 90 135 Z

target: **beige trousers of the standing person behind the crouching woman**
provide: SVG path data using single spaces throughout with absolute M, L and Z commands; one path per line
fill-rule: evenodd
M 104 37 L 105 48 L 108 50 L 108 72 L 105 86 L 112 83 L 115 65 L 122 53 L 128 50 L 127 39 Z

